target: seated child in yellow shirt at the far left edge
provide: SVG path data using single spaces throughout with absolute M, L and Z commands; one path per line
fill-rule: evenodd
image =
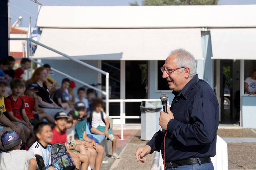
M 6 86 L 7 86 L 7 83 L 5 81 L 0 81 L 0 123 L 2 123 L 1 124 L 1 127 L 3 128 L 2 133 L 4 133 L 6 130 L 10 130 L 9 128 L 7 128 L 7 127 L 10 127 L 11 130 L 15 131 L 20 136 L 20 139 L 22 139 L 22 141 L 24 141 L 26 143 L 25 134 L 24 134 L 22 125 L 12 123 L 3 114 L 4 112 L 6 112 L 5 104 L 4 104 L 4 97 L 3 97 L 6 92 Z

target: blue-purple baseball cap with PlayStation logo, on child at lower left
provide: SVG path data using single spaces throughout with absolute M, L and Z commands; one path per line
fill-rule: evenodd
M 15 147 L 19 145 L 20 142 L 22 142 L 22 140 L 19 138 L 18 134 L 15 131 L 6 131 L 2 135 L 1 141 L 5 150 Z

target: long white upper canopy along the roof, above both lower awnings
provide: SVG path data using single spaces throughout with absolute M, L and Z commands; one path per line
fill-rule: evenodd
M 42 6 L 41 28 L 256 27 L 256 5 Z

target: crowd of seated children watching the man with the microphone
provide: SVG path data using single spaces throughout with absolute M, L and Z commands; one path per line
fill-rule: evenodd
M 28 63 L 31 62 L 21 62 L 24 73 L 24 70 L 28 69 Z M 0 74 L 5 66 L 2 63 L 4 62 L 0 61 Z M 45 65 L 45 68 L 46 70 L 49 68 L 47 70 L 49 73 L 50 66 Z M 86 129 L 93 134 L 105 135 L 111 140 L 111 158 L 120 158 L 115 153 L 116 137 L 110 130 L 109 121 L 103 111 L 104 102 L 94 98 L 93 89 L 88 89 L 86 92 L 84 87 L 80 87 L 77 90 L 78 97 L 75 98 L 76 85 L 73 81 L 65 78 L 60 88 L 56 88 L 59 87 L 58 83 L 47 77 L 49 82 L 47 91 L 53 92 L 49 92 L 53 95 L 53 101 L 63 108 L 63 112 L 56 113 L 53 118 L 45 113 L 44 108 L 38 106 L 39 85 L 37 83 L 25 85 L 25 82 L 19 78 L 14 77 L 10 82 L 10 95 L 5 98 L 7 79 L 0 80 L 0 136 L 2 136 L 0 148 L 6 151 L 0 154 L 0 169 L 15 167 L 36 169 L 39 160 L 43 160 L 46 170 L 54 169 L 55 167 L 51 165 L 51 148 L 48 144 L 62 143 L 66 146 L 77 169 L 99 170 L 104 148 L 95 142 L 93 135 L 87 136 Z M 21 147 L 29 147 L 29 151 L 20 150 Z

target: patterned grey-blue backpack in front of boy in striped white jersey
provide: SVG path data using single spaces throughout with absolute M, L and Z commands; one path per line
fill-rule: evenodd
M 62 143 L 51 145 L 52 166 L 58 170 L 75 170 L 75 163 Z

